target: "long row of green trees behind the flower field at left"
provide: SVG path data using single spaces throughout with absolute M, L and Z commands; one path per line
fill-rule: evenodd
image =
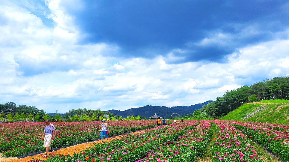
M 108 115 L 109 117 L 106 117 Z M 55 121 L 101 121 L 102 119 L 116 121 L 116 120 L 141 120 L 141 116 L 128 116 L 122 118 L 116 116 L 113 113 L 98 110 L 91 110 L 87 108 L 72 109 L 63 114 L 51 114 L 48 115 L 44 110 L 38 110 L 35 106 L 20 105 L 16 106 L 14 102 L 7 102 L 6 104 L 0 104 L 0 119 L 5 118 L 5 122 L 19 122 L 19 121 L 35 121 L 43 122 L 46 119 L 50 119 L 51 122 Z

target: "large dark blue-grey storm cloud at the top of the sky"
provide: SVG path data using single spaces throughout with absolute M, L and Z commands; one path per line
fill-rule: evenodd
M 153 58 L 178 48 L 188 51 L 178 54 L 183 62 L 222 62 L 236 49 L 287 29 L 284 6 L 286 1 L 85 1 L 83 10 L 68 12 L 87 34 L 80 43 L 117 44 L 121 51 L 113 56 Z M 186 46 L 216 31 L 231 35 L 225 45 Z

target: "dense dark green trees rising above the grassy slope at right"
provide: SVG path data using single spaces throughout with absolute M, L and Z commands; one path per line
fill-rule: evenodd
M 289 99 L 288 76 L 266 79 L 250 86 L 244 85 L 241 88 L 226 91 L 222 97 L 217 97 L 216 101 L 204 105 L 200 110 L 195 110 L 194 113 L 188 115 L 193 118 L 221 117 L 244 103 L 272 99 Z

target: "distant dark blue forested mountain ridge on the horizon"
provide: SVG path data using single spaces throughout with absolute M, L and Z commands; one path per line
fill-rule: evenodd
M 203 105 L 206 105 L 208 103 L 211 103 L 213 101 L 206 101 L 202 104 L 195 104 L 191 106 L 176 106 L 176 107 L 165 107 L 165 106 L 151 106 L 147 105 L 144 107 L 138 107 L 138 108 L 132 108 L 124 111 L 120 110 L 109 110 L 110 113 L 115 114 L 116 116 L 144 116 L 145 118 L 149 118 L 150 116 L 153 116 L 155 113 L 158 116 L 162 116 L 167 118 L 170 118 L 172 113 L 178 113 L 180 116 L 193 113 L 194 110 L 200 109 Z

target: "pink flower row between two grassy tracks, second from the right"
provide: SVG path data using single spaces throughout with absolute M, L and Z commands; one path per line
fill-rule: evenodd
M 219 161 L 263 161 L 260 153 L 254 148 L 253 141 L 238 128 L 223 121 L 215 122 L 219 134 L 213 147 L 212 162 Z

